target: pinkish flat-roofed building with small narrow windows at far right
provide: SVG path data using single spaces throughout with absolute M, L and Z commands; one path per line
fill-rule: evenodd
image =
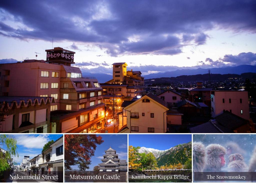
M 212 117 L 229 111 L 243 119 L 249 120 L 249 102 L 247 91 L 211 91 Z

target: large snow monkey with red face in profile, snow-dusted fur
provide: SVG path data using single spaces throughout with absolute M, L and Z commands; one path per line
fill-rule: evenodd
M 221 170 L 225 166 L 226 161 L 224 155 L 226 149 L 219 144 L 210 144 L 206 147 L 207 153 L 207 169 L 208 170 Z

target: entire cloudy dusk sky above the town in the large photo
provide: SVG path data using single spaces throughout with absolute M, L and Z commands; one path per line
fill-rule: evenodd
M 142 74 L 256 64 L 256 1 L 2 1 L 0 63 L 75 51 L 73 66 Z M 193 67 L 194 66 L 194 67 Z

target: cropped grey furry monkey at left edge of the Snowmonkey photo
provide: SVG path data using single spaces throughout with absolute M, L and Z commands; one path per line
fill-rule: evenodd
M 193 171 L 202 172 L 206 166 L 205 146 L 201 142 L 193 142 Z

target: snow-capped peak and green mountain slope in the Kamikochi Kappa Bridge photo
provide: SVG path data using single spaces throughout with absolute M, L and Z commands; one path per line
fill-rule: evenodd
M 159 167 L 166 164 L 184 164 L 188 160 L 188 158 L 192 158 L 192 143 L 189 142 L 179 144 L 167 150 L 141 147 L 138 152 L 146 154 L 153 153 L 153 155 L 156 157 L 157 165 Z

